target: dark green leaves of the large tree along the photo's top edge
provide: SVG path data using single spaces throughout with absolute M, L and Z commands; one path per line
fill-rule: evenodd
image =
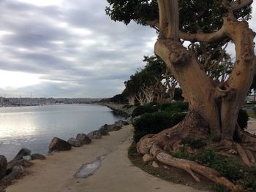
M 107 0 L 110 4 L 106 8 L 107 15 L 112 20 L 125 24 L 135 22 L 148 25 L 148 21 L 159 19 L 157 0 Z M 197 26 L 205 33 L 217 31 L 222 26 L 222 17 L 226 10 L 218 0 L 214 1 L 188 1 L 179 0 L 180 28 L 188 33 L 195 33 Z M 187 11 L 189 10 L 189 12 Z M 252 7 L 244 7 L 235 12 L 240 20 L 251 18 Z

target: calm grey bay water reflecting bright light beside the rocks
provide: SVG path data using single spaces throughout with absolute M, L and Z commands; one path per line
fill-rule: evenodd
M 108 107 L 91 104 L 2 107 L 0 155 L 10 160 L 21 147 L 46 154 L 55 136 L 67 140 L 120 119 Z

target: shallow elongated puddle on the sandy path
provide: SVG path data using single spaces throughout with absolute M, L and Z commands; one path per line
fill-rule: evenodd
M 97 160 L 90 164 L 83 164 L 78 172 L 75 173 L 75 178 L 86 178 L 94 174 L 99 169 L 100 164 L 106 158 L 106 155 L 101 155 Z

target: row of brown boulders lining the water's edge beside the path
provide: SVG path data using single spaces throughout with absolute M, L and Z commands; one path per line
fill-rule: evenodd
M 109 106 L 108 106 L 109 107 Z M 114 112 L 116 109 L 111 108 Z M 124 113 L 119 113 L 121 115 Z M 128 125 L 127 121 L 118 120 L 111 125 L 105 124 L 98 130 L 91 131 L 89 134 L 77 134 L 75 138 L 71 137 L 67 141 L 60 139 L 59 137 L 53 137 L 48 147 L 48 155 L 52 155 L 57 151 L 71 150 L 72 147 L 81 147 L 82 145 L 89 145 L 92 139 L 101 139 L 102 136 L 109 135 L 110 131 L 118 131 L 122 126 Z M 44 160 L 47 158 L 41 154 L 31 154 L 31 150 L 22 148 L 15 158 L 7 162 L 7 158 L 4 155 L 0 155 L 0 192 L 4 192 L 8 185 L 12 184 L 13 180 L 20 179 L 26 174 L 26 168 L 33 165 L 34 160 Z

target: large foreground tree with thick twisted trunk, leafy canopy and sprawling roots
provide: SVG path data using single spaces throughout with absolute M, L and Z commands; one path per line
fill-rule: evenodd
M 165 61 L 178 80 L 184 98 L 189 102 L 187 117 L 173 128 L 157 135 L 148 135 L 138 142 L 138 151 L 153 155 L 158 161 L 186 170 L 195 180 L 194 172 L 202 174 L 230 189 L 237 186 L 213 169 L 193 161 L 181 161 L 165 153 L 180 145 L 186 137 L 214 140 L 211 147 L 230 153 L 238 152 L 247 166 L 255 164 L 256 137 L 244 132 L 236 123 L 238 111 L 255 76 L 255 32 L 246 20 L 250 18 L 252 0 L 108 0 L 107 13 L 113 20 L 149 25 L 159 31 L 155 53 Z M 156 9 L 158 7 L 158 9 Z M 211 78 L 202 67 L 198 51 L 184 47 L 183 42 L 200 46 L 203 63 L 223 53 L 225 44 L 236 47 L 236 61 L 228 77 Z M 219 48 L 217 48 L 219 47 Z M 219 51 L 211 55 L 211 50 Z M 198 50 L 198 49 L 197 49 Z M 210 54 L 210 57 L 207 57 Z M 227 57 L 224 54 L 223 58 Z M 215 59 L 218 60 L 218 59 Z

